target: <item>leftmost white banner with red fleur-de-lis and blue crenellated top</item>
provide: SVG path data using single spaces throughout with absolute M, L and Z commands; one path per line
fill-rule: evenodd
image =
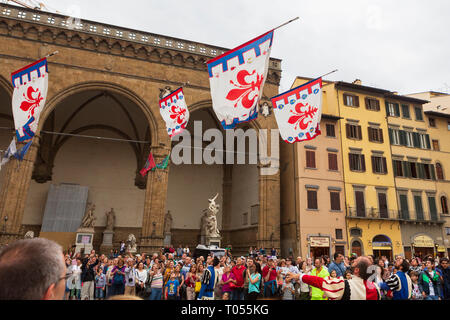
M 44 109 L 48 89 L 47 59 L 41 59 L 11 74 L 12 109 L 18 142 L 32 139 Z

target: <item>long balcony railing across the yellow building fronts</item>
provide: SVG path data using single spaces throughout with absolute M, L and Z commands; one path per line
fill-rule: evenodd
M 430 215 L 429 212 L 417 213 L 414 211 L 397 211 L 397 210 L 379 210 L 378 208 L 370 209 L 357 209 L 355 207 L 348 207 L 347 214 L 348 218 L 359 218 L 359 219 L 372 219 L 372 220 L 399 220 L 399 221 L 410 221 L 410 222 L 434 222 L 434 223 L 444 223 L 445 220 L 441 218 L 441 215 L 437 213 L 436 215 Z

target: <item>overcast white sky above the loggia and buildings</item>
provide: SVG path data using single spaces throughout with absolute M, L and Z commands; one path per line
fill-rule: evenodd
M 226 48 L 296 16 L 275 32 L 281 91 L 295 76 L 401 94 L 450 93 L 448 0 L 39 0 L 81 18 Z

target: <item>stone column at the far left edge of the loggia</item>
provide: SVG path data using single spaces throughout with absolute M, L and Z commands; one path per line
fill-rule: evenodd
M 22 161 L 15 158 L 6 164 L 5 182 L 0 191 L 0 244 L 14 241 L 21 237 L 25 203 L 27 201 L 28 189 L 30 187 L 31 175 L 33 173 L 34 161 L 39 149 L 39 137 L 33 138 L 33 143 L 28 149 Z M 25 144 L 17 144 L 20 149 Z M 6 229 L 4 229 L 4 217 L 8 217 Z M 5 232 L 6 231 L 6 232 Z

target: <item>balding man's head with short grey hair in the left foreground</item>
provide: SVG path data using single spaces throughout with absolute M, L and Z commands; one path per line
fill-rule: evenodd
M 19 240 L 0 251 L 0 300 L 61 300 L 65 280 L 64 255 L 54 241 Z

